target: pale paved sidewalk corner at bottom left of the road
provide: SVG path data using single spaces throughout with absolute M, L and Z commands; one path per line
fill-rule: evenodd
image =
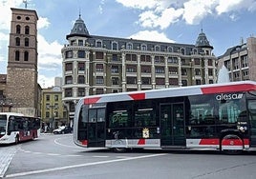
M 0 178 L 3 178 L 19 145 L 0 146 Z

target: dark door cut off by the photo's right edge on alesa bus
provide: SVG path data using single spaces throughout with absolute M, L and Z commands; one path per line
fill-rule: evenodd
M 248 101 L 250 123 L 250 148 L 256 148 L 256 100 Z

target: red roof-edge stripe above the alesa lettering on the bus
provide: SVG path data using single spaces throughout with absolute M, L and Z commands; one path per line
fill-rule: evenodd
M 256 86 L 252 84 L 240 84 L 240 85 L 230 85 L 221 87 L 206 87 L 202 88 L 203 94 L 212 94 L 218 92 L 236 92 L 236 91 L 247 91 L 256 90 Z

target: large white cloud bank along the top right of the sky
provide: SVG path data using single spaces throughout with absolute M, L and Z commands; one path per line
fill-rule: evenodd
M 116 0 L 124 7 L 139 10 L 138 24 L 143 28 L 160 30 L 183 19 L 198 25 L 208 15 L 228 13 L 237 20 L 239 10 L 256 10 L 255 0 Z

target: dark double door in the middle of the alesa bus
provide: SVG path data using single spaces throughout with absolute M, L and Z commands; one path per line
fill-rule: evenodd
M 185 146 L 184 104 L 160 105 L 161 147 Z

